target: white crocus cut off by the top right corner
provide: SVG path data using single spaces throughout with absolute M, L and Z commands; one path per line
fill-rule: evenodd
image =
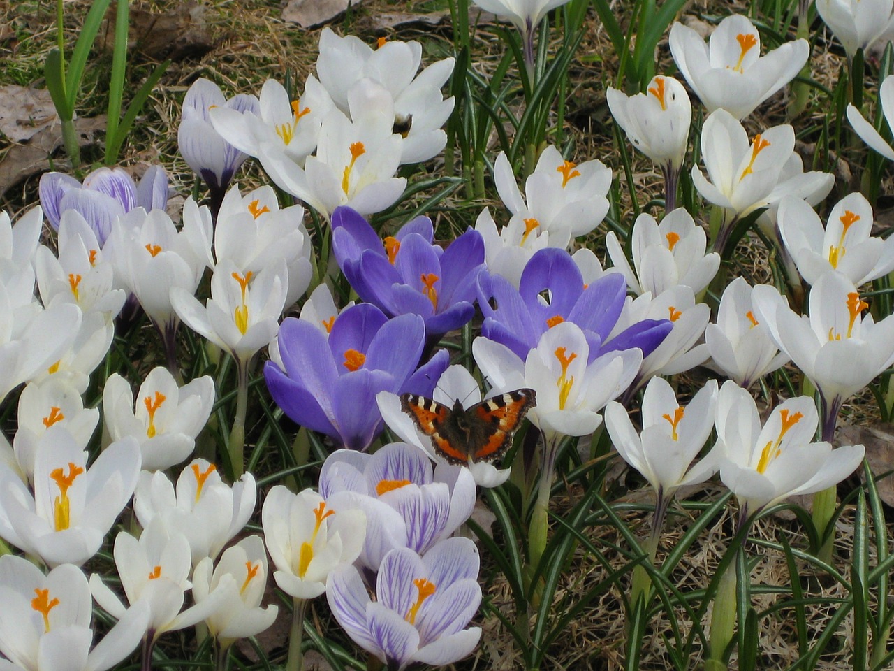
M 868 49 L 894 27 L 891 0 L 816 0 L 816 12 L 829 26 L 848 55 Z

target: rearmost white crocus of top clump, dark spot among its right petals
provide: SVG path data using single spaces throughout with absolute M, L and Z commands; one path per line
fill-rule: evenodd
M 441 88 L 453 72 L 453 59 L 444 58 L 419 72 L 422 45 L 413 40 L 379 40 L 375 51 L 353 35 L 340 38 L 333 30 L 320 33 L 316 72 L 333 101 L 350 114 L 349 93 L 368 78 L 381 84 L 394 101 L 394 132 L 404 138 L 401 164 L 427 161 L 447 143 L 441 126 L 453 111 L 453 98 L 444 99 Z

